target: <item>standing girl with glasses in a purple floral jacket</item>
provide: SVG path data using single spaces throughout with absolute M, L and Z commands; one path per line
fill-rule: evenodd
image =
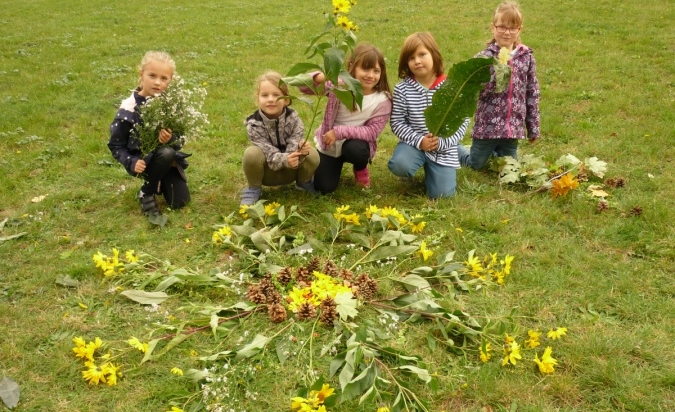
M 492 40 L 477 56 L 497 57 L 510 52 L 511 80 L 502 93 L 495 92 L 494 75 L 478 99 L 471 150 L 459 145 L 462 166 L 480 169 L 490 156 L 517 157 L 518 139 L 534 143 L 539 138 L 539 82 L 532 49 L 520 41 L 523 16 L 518 5 L 504 2 L 492 18 Z

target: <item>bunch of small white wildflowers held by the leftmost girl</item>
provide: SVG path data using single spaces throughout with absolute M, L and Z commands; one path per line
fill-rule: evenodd
M 180 136 L 181 146 L 199 137 L 209 123 L 207 114 L 201 112 L 205 98 L 206 89 L 188 88 L 180 76 L 174 76 L 164 93 L 148 98 L 139 108 L 141 122 L 136 125 L 143 154 L 161 146 L 158 137 L 162 129 Z

